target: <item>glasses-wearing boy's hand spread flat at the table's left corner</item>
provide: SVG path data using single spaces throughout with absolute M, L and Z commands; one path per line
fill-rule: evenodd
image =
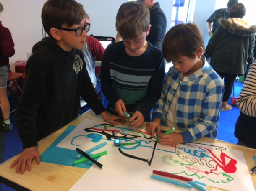
M 40 164 L 40 155 L 36 147 L 25 148 L 24 151 L 18 156 L 16 160 L 13 161 L 10 168 L 13 168 L 17 164 L 16 173 L 25 172 L 26 166 L 28 166 L 28 171 L 32 170 L 32 160 L 36 159 L 37 164 Z

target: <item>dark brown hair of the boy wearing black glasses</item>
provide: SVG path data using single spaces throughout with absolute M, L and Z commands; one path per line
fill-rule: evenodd
M 80 24 L 86 18 L 86 13 L 75 0 L 48 0 L 44 3 L 41 18 L 45 32 L 55 41 L 50 34 L 51 28 Z

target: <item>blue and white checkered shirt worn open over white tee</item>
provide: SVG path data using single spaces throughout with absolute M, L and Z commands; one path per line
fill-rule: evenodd
M 170 105 L 178 96 L 176 129 L 181 130 L 184 143 L 203 136 L 216 138 L 224 84 L 219 75 L 205 61 L 204 66 L 182 81 L 184 74 L 173 66 L 163 81 L 160 99 L 154 105 L 152 119 L 165 121 Z M 180 95 L 175 95 L 180 88 Z

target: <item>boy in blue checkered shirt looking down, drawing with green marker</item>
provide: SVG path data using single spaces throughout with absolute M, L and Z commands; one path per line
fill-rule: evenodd
M 165 77 L 147 131 L 154 136 L 157 129 L 163 145 L 188 143 L 203 136 L 215 138 L 224 84 L 203 56 L 201 31 L 193 23 L 172 27 L 166 33 L 162 51 L 173 66 Z M 163 135 L 161 125 L 182 132 Z

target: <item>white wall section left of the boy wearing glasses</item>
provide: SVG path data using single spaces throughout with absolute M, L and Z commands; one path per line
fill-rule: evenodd
M 46 0 L 0 0 L 4 10 L 0 20 L 10 29 L 15 55 L 10 58 L 11 70 L 15 60 L 24 60 L 32 46 L 42 39 L 41 10 Z

